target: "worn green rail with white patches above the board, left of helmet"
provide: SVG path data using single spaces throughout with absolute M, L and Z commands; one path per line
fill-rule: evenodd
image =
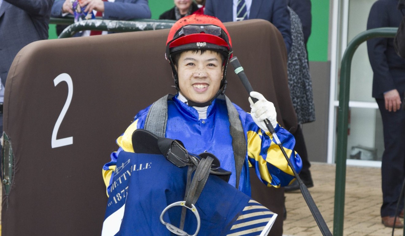
M 156 19 L 133 19 L 129 21 L 96 19 L 74 22 L 72 16 L 64 18 L 51 18 L 49 23 L 70 25 L 59 35 L 58 38 L 69 38 L 83 30 L 100 30 L 113 32 L 133 32 L 143 30 L 170 29 L 176 21 Z

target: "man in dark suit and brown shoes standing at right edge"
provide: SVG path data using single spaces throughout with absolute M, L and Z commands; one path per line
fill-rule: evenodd
M 397 4 L 398 0 L 377 0 L 371 7 L 367 30 L 398 27 L 402 14 L 397 10 Z M 405 60 L 396 54 L 392 38 L 368 40 L 367 51 L 374 72 L 372 95 L 378 104 L 384 128 L 382 223 L 386 227 L 403 227 L 395 210 L 398 201 L 399 209 L 404 207 L 400 191 L 405 177 L 405 111 L 401 109 L 405 92 Z M 403 210 L 399 215 L 403 217 Z

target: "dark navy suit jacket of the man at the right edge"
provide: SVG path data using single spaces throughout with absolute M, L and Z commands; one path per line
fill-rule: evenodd
M 402 19 L 397 9 L 398 0 L 378 0 L 373 4 L 367 21 L 367 30 L 379 27 L 398 27 Z M 394 49 L 392 38 L 367 40 L 367 50 L 373 68 L 373 97 L 384 98 L 384 92 L 397 89 L 405 91 L 405 59 Z

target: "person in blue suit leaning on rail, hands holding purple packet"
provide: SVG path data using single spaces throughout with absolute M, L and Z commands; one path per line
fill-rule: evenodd
M 131 19 L 150 19 L 151 11 L 148 0 L 82 0 L 81 6 L 86 6 L 85 12 L 93 11 L 96 16 L 102 16 L 107 20 L 131 20 Z M 97 14 L 99 13 L 99 15 Z M 70 0 L 55 0 L 52 6 L 52 17 L 64 17 L 73 14 L 72 2 Z M 58 35 L 65 27 L 58 26 Z M 111 32 L 103 32 L 107 34 Z M 99 32 L 96 34 L 100 34 Z M 75 36 L 93 35 L 90 30 L 86 30 Z

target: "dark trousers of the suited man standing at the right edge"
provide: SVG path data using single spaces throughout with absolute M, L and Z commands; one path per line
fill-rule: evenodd
M 403 98 L 402 98 L 403 99 Z M 402 100 L 401 99 L 401 100 Z M 389 112 L 384 99 L 376 99 L 384 129 L 384 153 L 381 164 L 382 196 L 381 216 L 394 216 L 405 177 L 405 111 Z M 376 138 L 382 136 L 376 134 Z M 370 183 L 373 184 L 373 183 Z M 403 198 L 400 199 L 403 209 Z

